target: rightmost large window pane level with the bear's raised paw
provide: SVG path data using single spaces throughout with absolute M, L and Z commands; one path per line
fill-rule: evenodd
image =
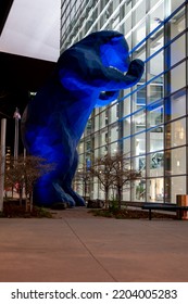
M 180 76 L 180 77 L 179 77 Z M 177 91 L 186 86 L 186 63 L 171 71 L 171 91 Z

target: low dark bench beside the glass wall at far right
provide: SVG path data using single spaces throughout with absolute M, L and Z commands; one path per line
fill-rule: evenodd
M 149 211 L 149 219 L 151 220 L 151 211 L 171 211 L 177 213 L 177 219 L 181 219 L 181 215 L 184 211 L 188 211 L 188 206 L 179 206 L 177 204 L 170 203 L 145 203 L 141 206 L 142 210 Z

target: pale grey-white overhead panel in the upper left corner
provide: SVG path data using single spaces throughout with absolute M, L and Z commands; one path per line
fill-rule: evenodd
M 61 0 L 14 0 L 0 51 L 55 62 L 60 54 Z

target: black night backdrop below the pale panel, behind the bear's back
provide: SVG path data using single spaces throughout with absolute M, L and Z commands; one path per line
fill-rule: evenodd
M 0 118 L 7 118 L 7 145 L 14 143 L 15 107 L 22 115 L 29 100 L 28 92 L 37 91 L 46 83 L 54 65 L 54 62 L 0 52 Z M 23 150 L 21 142 L 20 150 Z

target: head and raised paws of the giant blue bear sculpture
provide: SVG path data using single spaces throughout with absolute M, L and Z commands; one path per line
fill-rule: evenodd
M 140 60 L 130 62 L 123 34 L 101 30 L 65 50 L 58 61 L 57 71 L 65 89 L 79 97 L 84 92 L 95 96 L 99 92 L 96 104 L 103 105 L 103 100 L 106 104 L 117 93 L 103 94 L 100 103 L 100 92 L 114 92 L 134 86 L 143 73 L 143 63 Z

